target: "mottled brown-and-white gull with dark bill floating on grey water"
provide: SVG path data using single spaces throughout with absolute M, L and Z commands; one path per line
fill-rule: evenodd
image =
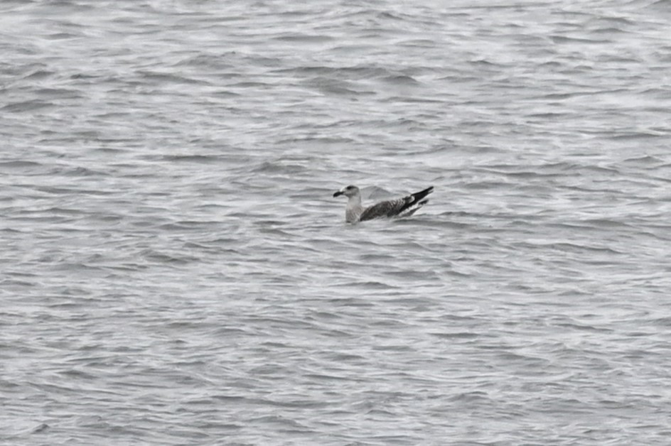
M 374 218 L 409 217 L 429 202 L 428 199 L 424 200 L 424 197 L 433 191 L 434 187 L 431 186 L 407 197 L 379 202 L 377 205 L 369 207 L 361 205 L 361 192 L 355 185 L 343 187 L 333 194 L 333 197 L 338 197 L 338 195 L 348 197 L 347 207 L 345 207 L 345 222 L 356 223 Z

